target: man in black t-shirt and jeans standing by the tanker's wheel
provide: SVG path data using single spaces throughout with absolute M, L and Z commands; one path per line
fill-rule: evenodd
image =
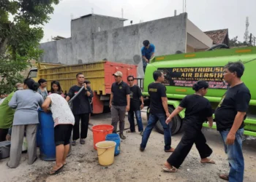
M 154 71 L 153 77 L 155 82 L 148 85 L 148 93 L 150 96 L 150 114 L 148 125 L 144 130 L 142 142 L 140 144 L 140 151 L 144 151 L 148 142 L 149 135 L 153 130 L 158 120 L 164 128 L 165 135 L 165 152 L 173 152 L 174 149 L 170 147 L 170 124 L 166 124 L 165 120 L 170 113 L 168 111 L 166 88 L 162 82 L 165 81 L 165 76 L 162 71 Z

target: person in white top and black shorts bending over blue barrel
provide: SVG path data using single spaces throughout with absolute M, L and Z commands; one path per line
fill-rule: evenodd
M 75 117 L 67 101 L 59 94 L 48 95 L 42 103 L 42 109 L 53 113 L 54 141 L 56 144 L 56 165 L 50 171 L 50 175 L 58 173 L 66 165 L 66 157 L 69 153 L 69 141 L 75 124 Z

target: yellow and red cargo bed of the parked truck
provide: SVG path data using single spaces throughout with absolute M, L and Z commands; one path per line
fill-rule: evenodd
M 39 69 L 39 78 L 47 80 L 47 90 L 50 90 L 50 82 L 53 80 L 59 81 L 63 92 L 66 93 L 69 92 L 69 88 L 72 85 L 77 84 L 75 75 L 82 73 L 86 80 L 91 82 L 93 91 L 98 95 L 107 95 L 111 93 L 111 85 L 115 82 L 113 74 L 116 71 L 123 73 L 123 79 L 126 82 L 127 76 L 137 76 L 137 67 L 124 63 L 101 61 L 58 68 L 41 68 Z

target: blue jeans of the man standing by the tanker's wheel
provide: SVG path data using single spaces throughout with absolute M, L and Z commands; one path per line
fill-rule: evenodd
M 165 114 L 150 114 L 148 119 L 148 125 L 146 126 L 143 134 L 143 138 L 140 144 L 140 148 L 145 149 L 148 142 L 149 135 L 153 130 L 154 126 L 157 124 L 158 120 L 161 122 L 162 127 L 164 128 L 165 136 L 165 150 L 170 150 L 171 138 L 170 138 L 170 124 L 166 124 L 166 115 Z

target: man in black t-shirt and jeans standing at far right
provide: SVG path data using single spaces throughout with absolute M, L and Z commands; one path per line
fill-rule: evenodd
M 224 80 L 230 88 L 223 95 L 215 111 L 217 130 L 222 135 L 225 152 L 230 164 L 230 173 L 221 174 L 219 178 L 227 181 L 241 182 L 244 180 L 244 157 L 242 151 L 242 135 L 244 119 L 249 108 L 251 94 L 241 81 L 244 65 L 240 61 L 225 66 Z

